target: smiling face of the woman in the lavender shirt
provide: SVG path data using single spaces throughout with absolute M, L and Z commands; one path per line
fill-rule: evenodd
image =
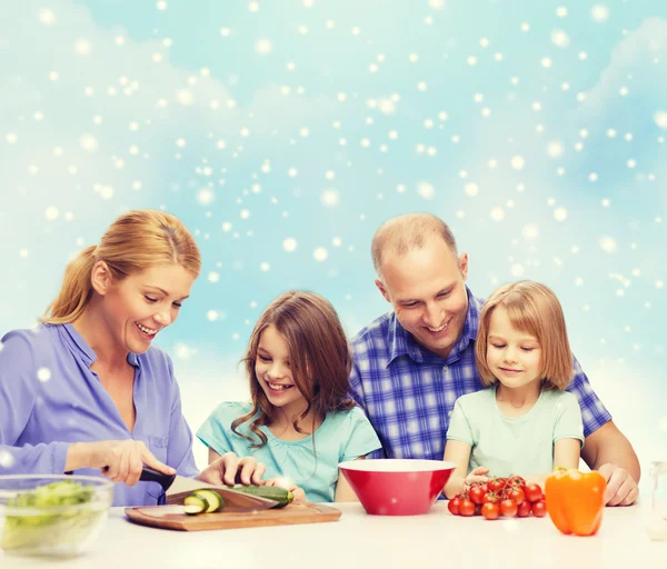
M 94 280 L 93 271 L 93 287 Z M 157 333 L 176 321 L 193 282 L 195 276 L 179 264 L 161 264 L 122 280 L 108 277 L 106 283 L 98 282 L 101 316 L 111 341 L 125 351 L 143 353 Z

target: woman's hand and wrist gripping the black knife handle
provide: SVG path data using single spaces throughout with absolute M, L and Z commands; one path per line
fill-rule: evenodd
M 110 480 L 135 486 L 145 465 L 166 475 L 176 473 L 173 468 L 160 462 L 143 442 L 132 439 L 76 442 L 68 450 L 64 471 L 99 468 Z

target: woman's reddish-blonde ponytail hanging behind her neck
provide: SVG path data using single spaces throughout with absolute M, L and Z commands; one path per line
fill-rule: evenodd
M 81 316 L 92 296 L 90 276 L 98 260 L 96 249 L 94 244 L 87 247 L 69 262 L 60 292 L 47 308 L 41 322 L 63 325 L 73 322 Z

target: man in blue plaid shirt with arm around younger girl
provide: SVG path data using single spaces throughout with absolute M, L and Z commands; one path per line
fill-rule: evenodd
M 352 338 L 352 395 L 388 458 L 441 460 L 454 403 L 482 389 L 475 366 L 481 303 L 466 287 L 468 256 L 428 213 L 390 219 L 372 240 L 376 286 L 394 307 Z M 578 361 L 567 388 L 581 407 L 581 457 L 607 479 L 606 502 L 637 499 L 639 462 Z

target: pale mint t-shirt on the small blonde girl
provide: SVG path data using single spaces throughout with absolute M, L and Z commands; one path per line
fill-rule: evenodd
M 457 399 L 447 439 L 470 445 L 468 472 L 484 466 L 489 476 L 530 476 L 554 470 L 554 443 L 584 443 L 581 410 L 568 391 L 542 391 L 522 417 L 505 417 L 496 403 L 496 386 Z

